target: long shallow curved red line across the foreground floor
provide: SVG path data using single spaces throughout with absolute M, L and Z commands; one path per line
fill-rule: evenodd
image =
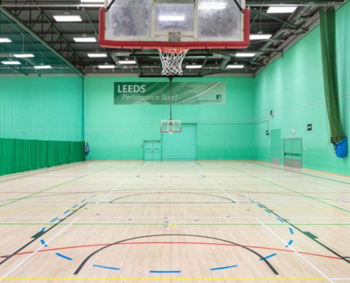
M 198 243 L 198 242 L 134 242 L 134 243 L 117 243 L 115 244 L 115 246 L 119 246 L 119 245 L 141 245 L 141 244 L 163 244 L 163 243 L 167 243 L 167 244 L 190 244 L 190 245 L 212 245 L 212 246 L 233 246 L 233 247 L 238 247 L 237 245 L 233 245 L 233 244 L 229 244 L 229 243 Z M 43 253 L 43 252 L 48 252 L 48 251 L 52 251 L 52 250 L 67 250 L 67 249 L 71 249 L 71 248 L 90 248 L 90 247 L 98 247 L 98 246 L 109 246 L 109 243 L 99 243 L 99 244 L 95 244 L 95 245 L 85 245 L 85 246 L 71 246 L 71 247 L 62 247 L 62 248 L 47 248 L 45 250 L 38 250 L 37 253 Z M 293 250 L 283 250 L 280 248 L 267 248 L 267 247 L 258 247 L 258 246 L 244 246 L 246 248 L 262 248 L 264 250 L 279 250 L 282 252 L 286 252 L 286 253 L 294 253 Z M 26 255 L 28 253 L 34 253 L 33 251 L 30 252 L 25 252 L 25 253 L 17 253 L 16 255 Z M 298 252 L 301 253 L 303 255 L 314 255 L 317 257 L 321 257 L 321 258 L 332 258 L 334 260 L 342 260 L 342 258 L 338 258 L 338 257 L 334 257 L 334 256 L 330 256 L 330 255 L 319 255 L 317 253 L 305 253 L 305 252 Z M 0 255 L 0 258 L 5 258 L 8 257 L 10 255 Z M 350 259 L 347 259 L 350 261 Z

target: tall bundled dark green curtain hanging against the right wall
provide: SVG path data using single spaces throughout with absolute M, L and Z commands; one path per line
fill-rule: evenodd
M 331 142 L 344 139 L 342 117 L 339 110 L 337 57 L 335 38 L 335 8 L 320 8 L 320 40 L 322 52 L 323 81 L 328 112 Z

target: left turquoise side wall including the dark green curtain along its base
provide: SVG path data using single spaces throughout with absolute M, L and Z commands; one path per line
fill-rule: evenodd
M 83 161 L 83 79 L 0 77 L 0 175 Z

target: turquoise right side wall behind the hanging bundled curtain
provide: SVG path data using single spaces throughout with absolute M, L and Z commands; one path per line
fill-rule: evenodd
M 349 136 L 350 4 L 337 11 L 337 63 L 344 131 Z M 282 138 L 303 139 L 303 167 L 350 175 L 349 157 L 337 158 L 330 143 L 323 88 L 320 29 L 317 26 L 296 45 L 257 75 L 255 85 L 254 158 L 270 161 L 267 129 L 281 129 Z M 257 124 L 259 122 L 259 124 Z M 313 124 L 313 131 L 307 131 Z M 296 133 L 291 134 L 291 129 Z M 281 156 L 283 158 L 283 156 Z

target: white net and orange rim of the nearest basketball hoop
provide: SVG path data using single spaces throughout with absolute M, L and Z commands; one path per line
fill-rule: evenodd
M 188 49 L 158 49 L 163 66 L 162 76 L 182 75 L 182 61 Z

